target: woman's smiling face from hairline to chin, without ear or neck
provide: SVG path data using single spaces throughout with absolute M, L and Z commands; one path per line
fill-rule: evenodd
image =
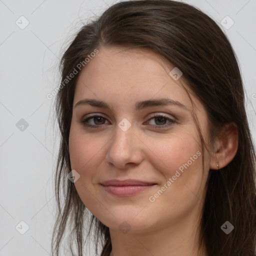
M 74 185 L 117 231 L 199 216 L 210 156 L 203 171 L 191 101 L 174 67 L 148 50 L 102 47 L 79 74 L 69 135 Z M 207 141 L 205 109 L 190 96 Z

